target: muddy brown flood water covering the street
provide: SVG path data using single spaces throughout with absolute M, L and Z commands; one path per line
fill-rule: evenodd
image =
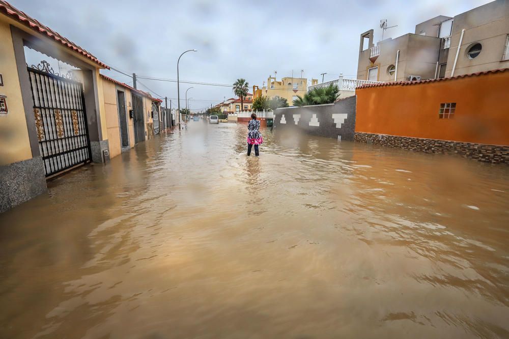
M 509 166 L 263 135 L 190 122 L 0 214 L 0 337 L 509 337 Z

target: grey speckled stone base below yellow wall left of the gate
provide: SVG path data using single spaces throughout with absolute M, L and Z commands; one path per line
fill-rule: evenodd
M 0 166 L 0 213 L 47 190 L 41 157 Z

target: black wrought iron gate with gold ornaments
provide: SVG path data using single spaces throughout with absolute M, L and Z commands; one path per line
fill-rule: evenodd
M 28 73 L 46 177 L 89 162 L 91 150 L 82 84 L 31 67 Z

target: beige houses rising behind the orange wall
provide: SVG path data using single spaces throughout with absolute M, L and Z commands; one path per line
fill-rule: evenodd
M 376 46 L 373 33 L 360 36 L 357 79 L 425 80 L 509 67 L 509 0 L 439 15 Z

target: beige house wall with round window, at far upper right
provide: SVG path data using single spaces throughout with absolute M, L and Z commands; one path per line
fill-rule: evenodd
M 509 67 L 509 61 L 502 61 L 509 34 L 509 1 L 497 0 L 454 17 L 446 76 L 451 76 L 463 29 L 455 76 Z M 469 59 L 467 51 L 477 42 L 483 49 L 476 58 Z

